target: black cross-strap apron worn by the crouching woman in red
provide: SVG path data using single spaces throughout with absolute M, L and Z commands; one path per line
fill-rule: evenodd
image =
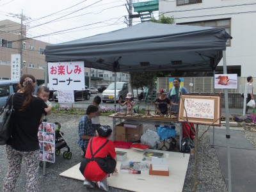
M 82 174 L 84 174 L 84 170 L 86 168 L 86 165 L 90 161 L 96 161 L 103 172 L 105 172 L 105 173 L 114 173 L 115 168 L 116 168 L 116 160 L 115 159 L 113 159 L 111 156 L 107 156 L 105 158 L 94 157 L 95 154 L 97 154 L 97 152 L 99 152 L 99 150 L 102 147 L 104 147 L 108 143 L 109 140 L 107 140 L 100 148 L 98 148 L 98 150 L 94 154 L 92 152 L 92 140 L 93 139 L 90 140 L 90 152 L 92 154 L 92 159 L 85 158 L 84 161 L 81 162 L 80 168 L 79 168 L 80 172 Z

